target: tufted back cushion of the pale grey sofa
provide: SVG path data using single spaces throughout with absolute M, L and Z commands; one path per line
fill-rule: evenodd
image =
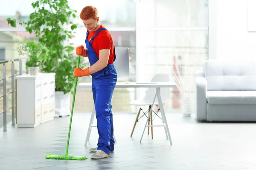
M 255 91 L 256 62 L 207 60 L 204 75 L 208 91 Z

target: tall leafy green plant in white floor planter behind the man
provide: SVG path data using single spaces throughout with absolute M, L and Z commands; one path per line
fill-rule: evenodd
M 26 31 L 33 32 L 38 41 L 49 49 L 47 59 L 41 62 L 41 71 L 55 73 L 55 113 L 69 115 L 77 56 L 72 54 L 74 47 L 68 39 L 73 37 L 77 28 L 72 20 L 76 11 L 70 9 L 67 0 L 37 0 L 32 7 L 35 11 L 29 15 L 29 21 L 21 21 L 20 24 L 25 25 Z M 7 21 L 16 26 L 15 19 L 7 18 Z

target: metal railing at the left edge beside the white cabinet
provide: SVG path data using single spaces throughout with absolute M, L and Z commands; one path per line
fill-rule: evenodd
M 12 126 L 15 126 L 15 106 L 17 105 L 17 103 L 15 102 L 15 77 L 17 75 L 22 75 L 22 60 L 26 59 L 26 58 L 21 58 L 21 59 L 11 59 L 11 60 L 4 60 L 4 61 L 0 61 L 0 64 L 3 64 L 3 78 L 0 79 L 0 81 L 3 81 L 3 95 L 0 96 L 0 98 L 3 97 L 3 111 L 0 114 L 3 114 L 3 131 L 6 132 L 7 131 L 7 112 L 12 109 Z M 15 70 L 15 65 L 14 62 L 15 61 L 19 61 L 19 73 L 17 74 L 17 70 Z M 12 66 L 11 66 L 11 76 L 10 77 L 6 77 L 6 63 L 12 62 Z M 26 70 L 26 74 L 28 74 L 28 70 Z M 12 79 L 12 91 L 9 91 L 7 93 L 6 89 L 7 89 L 7 78 L 11 78 Z M 7 108 L 7 95 L 12 94 L 12 105 L 10 108 Z

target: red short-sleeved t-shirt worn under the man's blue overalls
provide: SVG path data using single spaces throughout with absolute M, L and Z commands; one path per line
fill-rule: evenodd
M 99 27 L 99 29 L 100 28 L 105 28 L 105 27 L 101 25 Z M 89 41 L 90 38 L 93 37 L 99 29 L 97 29 L 96 31 L 89 32 L 88 37 L 87 37 L 87 41 Z M 87 32 L 88 32 L 88 30 L 87 30 Z M 99 31 L 99 33 L 96 35 L 96 37 L 93 38 L 93 45 L 92 46 L 93 46 L 93 50 L 95 51 L 98 58 L 99 58 L 99 50 L 110 49 L 108 64 L 113 63 L 113 60 L 114 60 L 114 57 L 115 57 L 114 43 L 113 43 L 113 39 L 111 37 L 111 34 L 108 30 Z

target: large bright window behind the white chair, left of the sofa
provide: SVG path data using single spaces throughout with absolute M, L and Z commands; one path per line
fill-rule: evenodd
M 137 81 L 149 82 L 155 74 L 174 72 L 174 56 L 186 93 L 193 99 L 193 74 L 208 59 L 208 0 L 137 1 Z M 146 89 L 138 89 L 137 97 Z M 167 112 L 180 112 L 182 96 L 170 89 Z

